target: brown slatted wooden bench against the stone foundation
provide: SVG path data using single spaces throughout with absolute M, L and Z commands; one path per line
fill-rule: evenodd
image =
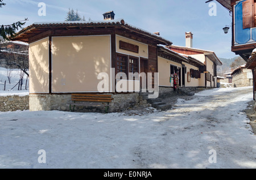
M 74 101 L 69 105 L 69 109 L 74 112 L 75 105 L 88 105 L 83 102 L 108 102 L 108 104 L 89 104 L 88 106 L 105 106 L 105 112 L 109 113 L 109 102 L 113 100 L 112 95 L 97 95 L 97 94 L 71 94 L 71 100 Z M 73 106 L 73 109 L 71 108 Z

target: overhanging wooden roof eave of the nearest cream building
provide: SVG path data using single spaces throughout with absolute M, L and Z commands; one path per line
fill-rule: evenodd
M 86 32 L 96 32 L 96 33 L 104 33 L 108 29 L 119 29 L 121 32 L 130 33 L 131 35 L 137 36 L 137 38 L 143 38 L 148 42 L 152 42 L 153 44 L 163 44 L 163 45 L 171 45 L 172 42 L 168 41 L 158 35 L 154 35 L 152 33 L 143 31 L 142 29 L 135 28 L 129 24 L 125 24 L 123 20 L 121 22 L 100 22 L 100 23 L 47 23 L 47 24 L 32 24 L 27 28 L 22 29 L 20 32 L 16 33 L 14 37 L 11 37 L 13 41 L 23 41 L 29 42 L 30 38 L 34 36 L 40 36 L 40 34 L 51 30 L 51 34 L 48 36 L 60 36 L 60 32 L 65 35 L 82 35 L 84 31 Z M 73 31 L 73 32 L 72 32 Z M 110 33 L 110 32 L 108 32 Z

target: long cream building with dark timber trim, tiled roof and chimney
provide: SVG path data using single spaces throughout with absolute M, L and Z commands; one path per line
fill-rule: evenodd
M 113 11 L 97 22 L 34 23 L 13 40 L 29 44 L 32 111 L 70 110 L 73 94 L 90 93 L 112 95 L 109 112 L 118 112 L 145 103 L 141 92 L 150 89 L 217 84 L 205 75 L 209 63 L 166 48 L 172 42 L 159 33 L 114 20 Z

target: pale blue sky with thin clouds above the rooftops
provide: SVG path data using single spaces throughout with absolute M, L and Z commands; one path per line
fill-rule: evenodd
M 85 19 L 103 20 L 102 14 L 114 11 L 115 19 L 160 36 L 174 45 L 185 46 L 185 32 L 193 33 L 193 48 L 212 50 L 219 58 L 233 58 L 231 29 L 224 34 L 222 28 L 231 25 L 229 11 L 218 2 L 216 16 L 210 16 L 207 0 L 4 0 L 0 8 L 0 24 L 11 24 L 28 18 L 24 27 L 35 22 L 60 22 L 65 20 L 68 8 L 78 10 Z M 39 2 L 46 3 L 46 16 L 39 16 Z

